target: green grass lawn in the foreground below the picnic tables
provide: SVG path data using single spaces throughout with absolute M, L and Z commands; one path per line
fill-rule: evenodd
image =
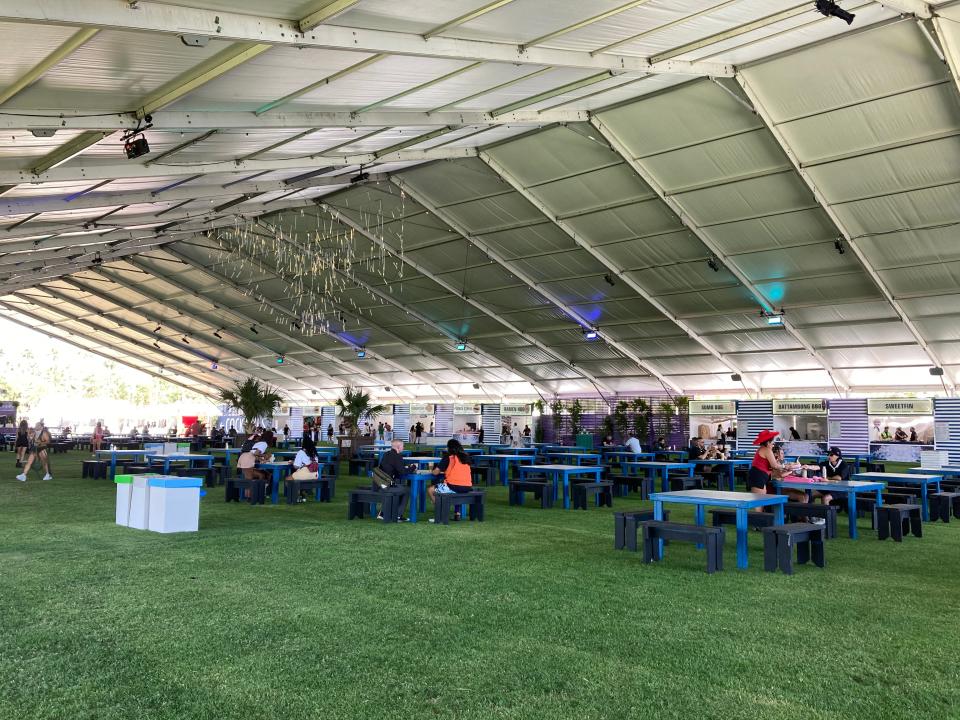
M 613 550 L 607 508 L 383 525 L 202 501 L 200 532 L 113 522 L 114 486 L 0 480 L 0 718 L 960 717 L 960 521 L 704 572 Z M 616 498 L 615 508 L 641 506 Z M 675 517 L 692 517 L 676 511 Z

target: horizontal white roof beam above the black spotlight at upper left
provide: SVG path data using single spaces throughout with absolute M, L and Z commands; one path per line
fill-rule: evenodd
M 160 110 L 153 114 L 153 129 L 169 132 L 200 132 L 205 130 L 322 130 L 324 128 L 377 128 L 383 132 L 393 127 L 464 127 L 473 125 L 546 125 L 550 123 L 586 122 L 586 110 L 543 110 L 502 113 L 496 117 L 481 110 L 451 110 L 459 103 L 481 97 L 498 89 L 515 85 L 529 78 L 550 72 L 543 68 L 505 83 L 459 98 L 440 108 L 421 110 L 375 110 L 356 114 L 348 111 L 275 112 L 254 115 L 236 110 L 195 110 L 180 112 Z M 643 76 L 646 77 L 646 76 Z M 637 79 L 640 79 L 639 77 Z M 47 110 L 19 111 L 0 114 L 0 130 L 99 130 L 114 132 L 134 130 L 138 120 L 134 113 L 93 112 L 83 114 L 50 114 Z M 350 145 L 357 137 L 344 145 Z M 332 152 L 341 146 L 327 148 L 317 155 Z M 265 152 L 265 151 L 261 151 Z

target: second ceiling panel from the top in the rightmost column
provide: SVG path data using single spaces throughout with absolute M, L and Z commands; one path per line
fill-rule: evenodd
M 829 125 L 829 130 L 825 127 Z M 953 132 L 960 127 L 960 95 L 947 79 L 935 85 L 781 124 L 802 162 Z

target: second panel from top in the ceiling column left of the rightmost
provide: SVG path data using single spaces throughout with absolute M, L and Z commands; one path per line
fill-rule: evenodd
M 644 167 L 667 192 L 728 182 L 731 177 L 786 170 L 790 163 L 766 130 L 660 153 L 644 161 Z

